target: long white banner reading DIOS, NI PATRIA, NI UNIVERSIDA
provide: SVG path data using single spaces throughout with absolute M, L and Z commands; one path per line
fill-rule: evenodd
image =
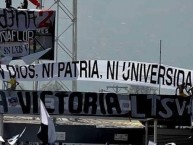
M 18 81 L 81 80 L 146 85 L 174 89 L 185 82 L 192 86 L 192 70 L 157 63 L 83 60 L 38 65 L 1 65 L 0 79 Z

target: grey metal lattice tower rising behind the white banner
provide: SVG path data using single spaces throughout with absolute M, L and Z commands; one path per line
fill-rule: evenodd
M 42 8 L 47 7 L 44 4 L 47 4 L 46 1 L 50 0 L 40 0 Z M 66 56 L 71 59 L 71 61 L 77 60 L 77 0 L 54 0 L 53 4 L 50 6 L 49 9 L 55 9 L 56 10 L 56 31 L 55 31 L 55 61 L 60 61 L 59 55 L 61 54 L 61 51 L 65 52 Z M 68 5 L 67 3 L 70 3 Z M 72 6 L 72 7 L 71 7 Z M 61 17 L 65 15 L 65 18 L 61 20 Z M 70 23 L 68 22 L 65 26 L 61 26 L 61 22 L 70 20 Z M 59 26 L 60 25 L 60 26 Z M 61 28 L 62 27 L 62 28 Z M 71 31 L 71 34 L 69 35 L 68 31 Z M 71 36 L 72 35 L 72 36 Z M 70 46 L 69 44 L 66 44 L 65 38 L 70 39 Z M 68 41 L 69 43 L 69 41 Z M 66 59 L 66 58 L 65 58 Z M 64 61 L 64 59 L 62 59 Z M 69 60 L 65 60 L 69 61 Z M 65 85 L 62 81 L 58 81 L 61 85 Z M 72 89 L 69 89 L 67 85 L 65 85 L 65 88 L 67 90 L 77 91 L 77 81 L 72 81 Z

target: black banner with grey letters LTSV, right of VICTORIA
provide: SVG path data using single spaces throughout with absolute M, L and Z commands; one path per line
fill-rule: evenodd
M 189 120 L 191 115 L 191 97 L 175 95 L 131 94 L 132 118 Z

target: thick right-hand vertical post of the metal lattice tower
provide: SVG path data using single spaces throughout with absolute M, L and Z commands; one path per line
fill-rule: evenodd
M 73 0 L 72 60 L 77 60 L 77 0 Z M 72 91 L 77 91 L 77 81 L 72 81 Z

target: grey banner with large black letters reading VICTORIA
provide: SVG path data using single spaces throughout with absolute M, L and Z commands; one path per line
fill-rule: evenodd
M 39 114 L 39 99 L 49 114 L 60 116 L 129 117 L 129 96 L 64 91 L 0 91 L 0 113 Z

